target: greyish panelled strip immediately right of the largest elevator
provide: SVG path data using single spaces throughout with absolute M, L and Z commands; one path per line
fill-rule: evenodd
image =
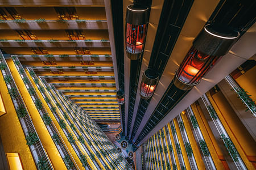
M 218 82 L 230 74 L 243 62 L 256 53 L 256 23 L 233 45 L 232 49 L 209 71 L 209 74 L 201 80 L 201 82 L 194 87 L 187 96 L 184 97 L 177 105 L 172 109 L 167 116 L 159 122 L 159 124 L 148 134 L 141 143 L 145 142 L 151 135 L 162 129 L 164 125 L 170 122 L 178 114 L 180 114 L 189 105 L 194 103 L 205 92 L 215 86 Z M 141 143 L 139 145 L 141 145 Z

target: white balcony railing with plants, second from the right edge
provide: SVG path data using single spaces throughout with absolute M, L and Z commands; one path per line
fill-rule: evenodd
M 209 101 L 208 97 L 204 94 L 203 96 L 201 96 L 201 99 L 203 100 L 203 102 L 205 104 L 205 107 L 207 108 L 207 111 L 210 114 L 209 108 L 213 109 L 213 107 L 212 107 L 212 104 L 210 104 L 210 101 Z M 212 115 L 210 114 L 210 117 L 212 118 L 212 121 L 213 121 L 214 125 L 216 126 L 218 133 L 220 135 L 224 135 L 226 138 L 230 139 L 228 133 L 226 133 L 226 130 L 225 130 L 224 126 L 222 125 L 218 116 L 217 116 L 216 119 L 214 119 L 212 117 Z M 224 141 L 223 138 L 222 138 L 222 141 L 224 142 L 224 144 L 226 144 L 226 142 Z M 228 150 L 228 152 L 229 152 L 229 155 L 232 155 L 229 150 Z M 237 161 L 233 158 L 233 156 L 231 156 L 231 158 L 233 159 L 234 164 L 236 164 L 237 169 L 247 169 L 245 164 L 243 163 L 240 155 L 238 154 L 238 152 L 237 152 L 237 156 L 238 156 Z

